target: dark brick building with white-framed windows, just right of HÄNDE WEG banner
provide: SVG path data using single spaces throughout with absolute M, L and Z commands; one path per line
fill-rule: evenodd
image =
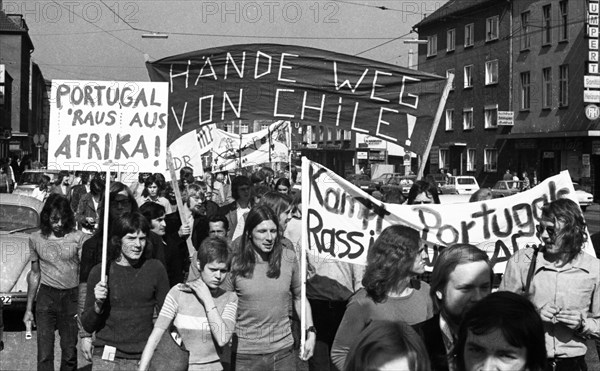
M 493 184 L 503 172 L 498 112 L 510 111 L 511 15 L 506 2 L 449 1 L 415 28 L 419 69 L 454 74 L 426 173 L 445 169 Z M 502 123 L 502 122 L 501 122 Z M 428 170 L 428 171 L 427 171 Z

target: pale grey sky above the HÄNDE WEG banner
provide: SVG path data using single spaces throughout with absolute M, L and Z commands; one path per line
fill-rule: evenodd
M 275 43 L 407 66 L 412 27 L 446 0 L 17 1 L 46 79 L 148 81 L 150 60 L 216 46 Z M 381 8 L 386 8 L 382 10 Z M 142 38 L 148 33 L 167 39 Z

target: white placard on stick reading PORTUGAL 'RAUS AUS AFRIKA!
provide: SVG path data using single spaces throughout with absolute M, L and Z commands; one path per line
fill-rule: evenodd
M 166 168 L 168 84 L 52 80 L 48 167 Z

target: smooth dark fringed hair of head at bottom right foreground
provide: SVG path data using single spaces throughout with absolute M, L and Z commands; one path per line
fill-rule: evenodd
M 546 369 L 544 325 L 536 307 L 521 295 L 498 291 L 481 299 L 464 316 L 455 346 L 459 370 L 465 369 L 464 354 L 469 332 L 485 335 L 494 330 L 500 330 L 510 345 L 527 350 L 527 370 Z

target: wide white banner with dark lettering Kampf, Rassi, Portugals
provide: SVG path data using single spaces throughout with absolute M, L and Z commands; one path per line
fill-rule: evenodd
M 426 245 L 431 271 L 441 246 L 470 243 L 486 251 L 494 272 L 528 245 L 539 245 L 536 225 L 541 207 L 557 198 L 577 202 L 568 171 L 516 195 L 462 204 L 386 204 L 369 196 L 331 170 L 303 158 L 303 239 L 315 259 L 366 264 L 369 247 L 393 224 L 418 230 Z M 305 237 L 304 237 L 305 236 Z M 590 243 L 586 252 L 595 256 Z

